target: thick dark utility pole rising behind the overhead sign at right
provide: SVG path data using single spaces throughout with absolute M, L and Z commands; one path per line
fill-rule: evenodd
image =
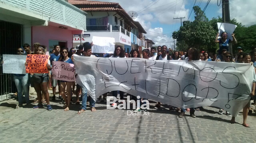
M 230 8 L 229 8 L 229 0 L 222 0 L 222 22 L 230 23 Z M 232 43 L 229 44 L 229 51 L 233 56 Z

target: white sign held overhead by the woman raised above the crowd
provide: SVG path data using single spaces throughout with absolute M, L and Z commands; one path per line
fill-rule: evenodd
M 220 33 L 220 36 L 223 32 L 226 32 L 228 35 L 228 39 L 233 40 L 233 37 L 231 36 L 232 33 L 234 33 L 236 29 L 236 25 L 230 24 L 230 23 L 219 23 L 217 22 L 218 25 L 218 33 Z M 220 38 L 220 37 L 219 37 Z

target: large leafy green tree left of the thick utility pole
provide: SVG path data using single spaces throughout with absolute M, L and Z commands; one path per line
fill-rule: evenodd
M 195 20 L 193 22 L 183 21 L 183 26 L 179 31 L 174 31 L 172 36 L 177 39 L 177 43 L 183 40 L 188 47 L 215 52 L 216 31 L 199 6 L 194 6 L 193 10 Z M 180 49 L 180 45 L 177 45 L 177 49 Z

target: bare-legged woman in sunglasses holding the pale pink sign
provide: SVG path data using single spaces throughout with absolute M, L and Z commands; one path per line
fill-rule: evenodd
M 58 61 L 60 62 L 66 62 L 69 64 L 73 64 L 72 59 L 69 57 L 69 53 L 68 53 L 68 48 L 62 48 L 60 51 L 60 58 L 58 59 Z M 63 100 L 66 102 L 66 104 L 64 105 L 64 111 L 68 111 L 69 107 L 70 107 L 70 101 L 71 101 L 71 97 L 72 97 L 72 84 L 73 82 L 70 81 L 60 81 L 61 83 L 61 96 L 63 98 Z M 67 97 L 65 95 L 65 89 L 67 87 Z

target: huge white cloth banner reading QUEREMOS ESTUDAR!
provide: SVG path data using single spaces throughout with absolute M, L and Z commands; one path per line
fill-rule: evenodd
M 220 107 L 233 116 L 248 103 L 255 74 L 253 66 L 239 63 L 84 56 L 74 59 L 82 81 L 78 84 L 84 84 L 93 99 L 120 90 L 180 108 Z

